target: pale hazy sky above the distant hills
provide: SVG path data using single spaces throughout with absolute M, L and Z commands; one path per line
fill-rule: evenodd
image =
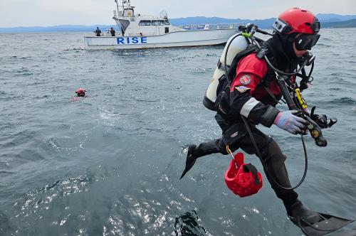
M 120 0 L 119 0 L 120 1 Z M 169 18 L 271 18 L 293 6 L 314 14 L 356 14 L 356 0 L 131 0 L 136 12 Z M 0 27 L 115 24 L 114 0 L 0 0 Z

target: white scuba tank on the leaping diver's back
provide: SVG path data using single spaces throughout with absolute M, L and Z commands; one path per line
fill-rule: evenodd
M 219 85 L 219 80 L 225 75 L 225 56 L 226 65 L 227 68 L 229 68 L 235 56 L 245 50 L 248 46 L 248 41 L 244 36 L 240 35 L 236 37 L 236 35 L 237 34 L 231 36 L 231 38 L 229 38 L 229 41 L 227 41 L 224 51 L 221 54 L 221 57 L 219 58 L 218 65 L 216 66 L 216 69 L 214 71 L 213 78 L 210 81 L 209 87 L 204 95 L 203 104 L 207 109 L 210 109 L 212 111 L 216 110 L 214 104 L 216 100 L 216 90 Z M 227 55 L 226 50 L 228 50 Z

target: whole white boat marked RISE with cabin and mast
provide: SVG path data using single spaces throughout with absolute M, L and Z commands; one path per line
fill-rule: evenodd
M 236 33 L 237 27 L 229 25 L 200 24 L 173 26 L 167 13 L 162 11 L 159 17 L 135 13 L 130 0 L 122 0 L 112 17 L 120 31 L 115 36 L 86 36 L 85 49 L 133 49 L 165 48 L 197 45 L 218 45 L 228 41 Z

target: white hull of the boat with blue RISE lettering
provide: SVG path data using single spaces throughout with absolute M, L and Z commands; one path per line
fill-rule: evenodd
M 226 43 L 236 28 L 177 31 L 160 36 L 84 37 L 85 49 L 169 48 Z

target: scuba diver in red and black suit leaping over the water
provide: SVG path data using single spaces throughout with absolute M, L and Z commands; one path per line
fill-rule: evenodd
M 325 235 L 352 220 L 316 213 L 303 205 L 298 199 L 298 193 L 290 186 L 284 163 L 286 155 L 282 153 L 276 141 L 263 134 L 256 125 L 262 124 L 269 128 L 274 124 L 291 134 L 306 134 L 310 120 L 305 117 L 310 117 L 319 127 L 328 127 L 326 116 L 314 114 L 314 109 L 310 112 L 308 108 L 303 111 L 280 111 L 276 108 L 276 104 L 284 97 L 278 82 L 280 73 L 277 72 L 284 74 L 283 82 L 288 86 L 298 87 L 295 77 L 297 73 L 293 72 L 303 63 L 303 59 L 312 57 L 308 50 L 318 42 L 319 30 L 320 22 L 310 11 L 288 9 L 273 23 L 272 37 L 267 41 L 260 40 L 261 47 L 252 50 L 247 48 L 238 54 L 240 56 L 239 60 L 235 60 L 236 65 L 233 61 L 229 66 L 229 72 L 234 70 L 234 76 L 231 79 L 229 76 L 225 77 L 229 85 L 221 87 L 221 81 L 224 80 L 222 76 L 216 91 L 215 119 L 221 127 L 222 136 L 220 139 L 202 142 L 198 146 L 190 144 L 186 166 L 181 176 L 182 179 L 201 156 L 216 153 L 227 155 L 239 148 L 247 154 L 256 154 L 263 164 L 273 191 L 283 201 L 288 217 L 306 235 Z M 218 68 L 221 64 L 224 65 L 223 61 L 219 63 Z M 306 88 L 308 81 L 303 86 L 300 83 L 300 90 Z M 326 146 L 326 140 L 317 145 Z

